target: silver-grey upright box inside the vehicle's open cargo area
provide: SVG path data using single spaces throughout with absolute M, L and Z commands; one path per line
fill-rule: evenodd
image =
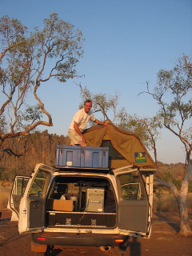
M 86 211 L 100 212 L 104 211 L 104 194 L 102 188 L 90 188 L 86 190 Z

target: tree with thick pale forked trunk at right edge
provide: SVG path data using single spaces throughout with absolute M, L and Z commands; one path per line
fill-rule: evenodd
M 149 83 L 146 83 L 146 94 L 150 94 L 158 103 L 158 116 L 161 117 L 162 125 L 170 130 L 176 138 L 182 142 L 186 150 L 186 171 L 182 179 L 180 190 L 173 182 L 163 181 L 156 177 L 158 186 L 169 188 L 176 201 L 181 219 L 180 234 L 191 235 L 190 221 L 186 207 L 186 196 L 189 190 L 190 178 L 192 177 L 192 136 L 190 118 L 192 116 L 192 62 L 187 56 L 178 59 L 173 70 L 160 70 L 158 72 L 158 84 L 154 91 L 150 91 Z

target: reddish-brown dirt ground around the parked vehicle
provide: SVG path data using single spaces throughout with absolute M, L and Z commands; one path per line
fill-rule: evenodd
M 10 210 L 0 210 L 0 255 L 30 256 L 30 234 L 19 235 L 18 223 L 10 222 Z M 190 214 L 192 224 L 192 214 Z M 192 256 L 192 237 L 177 234 L 179 228 L 177 213 L 156 213 L 153 215 L 152 234 L 149 239 L 130 238 L 125 256 Z M 52 256 L 102 256 L 112 252 L 102 252 L 94 247 L 64 247 L 54 250 Z M 51 256 L 50 255 L 50 256 Z M 117 255 L 113 252 L 113 255 Z

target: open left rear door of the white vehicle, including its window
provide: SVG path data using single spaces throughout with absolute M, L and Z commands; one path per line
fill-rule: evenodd
M 43 230 L 45 225 L 46 194 L 50 184 L 52 166 L 38 164 L 26 186 L 19 206 L 18 232 L 34 233 Z

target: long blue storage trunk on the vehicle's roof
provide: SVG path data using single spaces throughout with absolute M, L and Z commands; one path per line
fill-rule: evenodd
M 57 166 L 108 168 L 109 148 L 96 146 L 58 146 Z

